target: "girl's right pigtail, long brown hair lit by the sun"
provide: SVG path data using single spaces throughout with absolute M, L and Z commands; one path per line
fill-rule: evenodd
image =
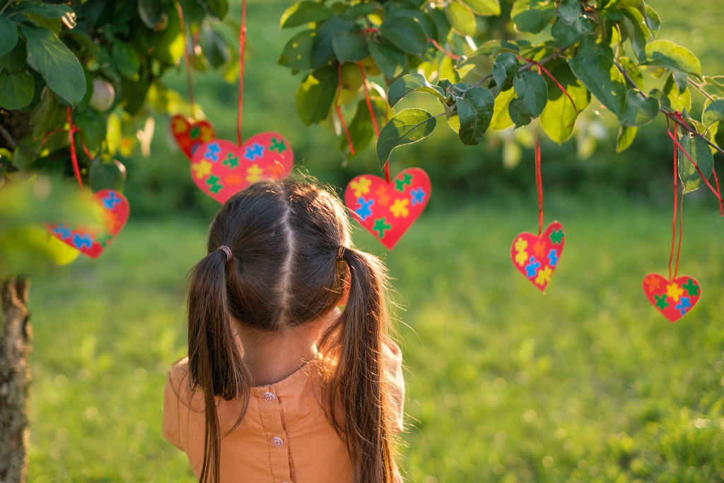
M 350 291 L 340 318 L 322 338 L 338 347 L 330 382 L 329 408 L 337 433 L 346 439 L 354 483 L 390 483 L 395 478 L 394 448 L 384 385 L 384 338 L 387 335 L 384 267 L 376 257 L 340 249 L 350 270 Z M 341 420 L 340 420 L 341 419 Z

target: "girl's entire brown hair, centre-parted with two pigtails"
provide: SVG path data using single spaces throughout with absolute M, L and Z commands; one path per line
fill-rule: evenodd
M 219 250 L 225 245 L 232 257 Z M 339 247 L 342 260 L 337 260 Z M 248 407 L 251 375 L 232 323 L 269 333 L 328 314 L 350 291 L 342 315 L 321 335 L 327 364 L 324 409 L 345 440 L 354 483 L 390 483 L 394 433 L 384 389 L 387 337 L 381 262 L 350 246 L 340 200 L 294 179 L 258 181 L 232 196 L 211 223 L 208 255 L 193 268 L 188 297 L 192 389 L 201 388 L 206 435 L 201 483 L 218 483 L 221 429 L 216 396 Z

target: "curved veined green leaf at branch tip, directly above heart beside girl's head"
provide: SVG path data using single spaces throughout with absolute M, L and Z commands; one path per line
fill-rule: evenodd
M 411 144 L 430 134 L 435 129 L 435 118 L 423 109 L 405 109 L 385 124 L 377 140 L 377 158 L 380 165 L 390 158 L 397 146 Z

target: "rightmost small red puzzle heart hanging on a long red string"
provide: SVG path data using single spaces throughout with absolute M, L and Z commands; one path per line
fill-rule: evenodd
M 689 275 L 681 275 L 669 282 L 658 273 L 649 273 L 644 278 L 643 287 L 649 302 L 671 322 L 686 315 L 702 296 L 702 286 Z

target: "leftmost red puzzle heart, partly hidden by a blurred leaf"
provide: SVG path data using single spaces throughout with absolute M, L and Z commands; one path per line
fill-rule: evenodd
M 104 226 L 76 226 L 75 223 L 46 223 L 46 229 L 61 242 L 80 250 L 91 258 L 98 258 L 119 234 L 128 220 L 128 200 L 115 189 L 101 189 L 93 201 L 103 211 Z

